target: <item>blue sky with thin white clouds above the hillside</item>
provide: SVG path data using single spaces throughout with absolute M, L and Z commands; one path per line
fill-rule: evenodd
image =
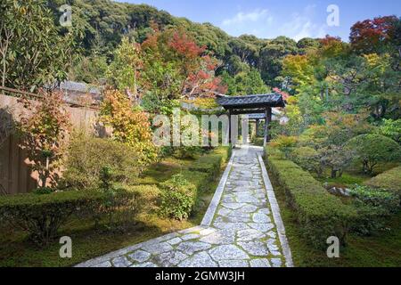
M 358 20 L 376 16 L 401 16 L 399 0 L 119 0 L 150 4 L 174 16 L 210 22 L 231 36 L 341 37 L 348 40 L 349 28 Z M 336 4 L 340 26 L 329 27 L 327 7 Z

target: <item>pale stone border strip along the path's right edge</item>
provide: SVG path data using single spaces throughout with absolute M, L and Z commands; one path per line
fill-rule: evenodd
M 263 161 L 260 153 L 258 153 L 258 159 L 260 167 L 262 168 L 262 176 L 265 183 L 267 198 L 269 199 L 270 207 L 272 208 L 274 224 L 277 227 L 277 233 L 280 239 L 280 243 L 282 244 L 282 253 L 285 257 L 285 265 L 287 267 L 294 267 L 294 263 L 292 262 L 291 248 L 285 235 L 285 228 L 284 224 L 282 223 L 282 216 L 280 215 L 280 207 L 277 203 L 277 199 L 275 199 L 273 186 L 270 182 L 269 175 L 267 174 L 265 162 Z

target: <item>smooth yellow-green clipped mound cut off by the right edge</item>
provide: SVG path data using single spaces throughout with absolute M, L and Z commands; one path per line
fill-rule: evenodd
M 373 177 L 364 183 L 375 189 L 386 189 L 397 193 L 401 197 L 401 167 L 396 167 Z

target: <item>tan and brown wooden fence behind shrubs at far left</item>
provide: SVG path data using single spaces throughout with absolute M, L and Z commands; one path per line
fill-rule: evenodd
M 40 100 L 40 98 L 33 98 Z M 0 111 L 9 111 L 12 119 L 18 120 L 23 110 L 18 98 L 0 94 Z M 66 105 L 74 128 L 92 132 L 96 130 L 105 135 L 102 127 L 96 124 L 98 110 L 79 106 L 73 108 Z M 0 117 L 2 118 L 2 117 Z M 5 124 L 5 122 L 0 122 Z M 2 133 L 0 132 L 0 135 Z M 4 134 L 3 134 L 4 135 Z M 37 187 L 37 173 L 29 169 L 29 159 L 19 147 L 19 139 L 15 134 L 0 137 L 0 194 L 16 194 L 32 191 Z

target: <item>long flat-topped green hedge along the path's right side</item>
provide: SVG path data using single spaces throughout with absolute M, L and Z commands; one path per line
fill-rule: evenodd
M 315 248 L 327 248 L 331 236 L 346 243 L 356 212 L 338 197 L 327 192 L 315 178 L 290 160 L 267 158 L 267 167 L 282 185 L 288 204 L 298 216 L 299 224 Z

